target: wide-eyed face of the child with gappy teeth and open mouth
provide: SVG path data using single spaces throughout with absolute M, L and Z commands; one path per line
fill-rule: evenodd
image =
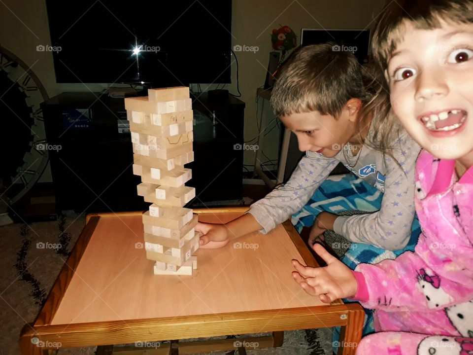
M 407 24 L 388 62 L 394 112 L 416 142 L 442 159 L 473 158 L 472 59 L 472 24 Z

